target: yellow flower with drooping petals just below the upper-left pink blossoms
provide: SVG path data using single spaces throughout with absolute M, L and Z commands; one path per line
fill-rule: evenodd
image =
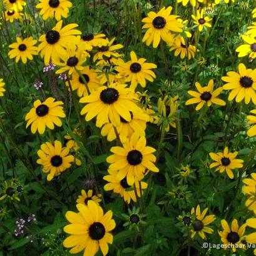
M 59 117 L 66 117 L 63 107 L 60 106 L 63 104 L 62 101 L 55 101 L 52 97 L 47 98 L 44 102 L 37 99 L 34 102 L 34 107 L 26 114 L 26 128 L 31 125 L 32 134 L 35 134 L 36 130 L 39 134 L 43 134 L 46 126 L 51 130 L 54 129 L 54 124 L 62 126 Z

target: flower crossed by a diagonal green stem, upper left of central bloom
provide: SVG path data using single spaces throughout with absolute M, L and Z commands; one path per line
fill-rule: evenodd
M 96 71 L 94 69 L 91 69 L 90 66 L 83 67 L 81 70 L 81 74 L 86 80 L 90 92 L 95 91 L 101 86 Z M 66 85 L 68 86 L 67 82 Z M 73 91 L 77 90 L 77 95 L 79 97 L 84 97 L 88 95 L 86 85 L 84 84 L 84 81 L 82 81 L 82 78 L 79 76 L 79 74 L 77 74 L 77 72 L 74 72 L 72 74 L 71 87 Z

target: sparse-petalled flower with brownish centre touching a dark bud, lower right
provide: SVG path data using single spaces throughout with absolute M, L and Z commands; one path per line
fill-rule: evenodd
M 212 234 L 214 232 L 213 229 L 206 227 L 207 225 L 211 224 L 215 219 L 215 215 L 206 215 L 208 208 L 205 208 L 201 214 L 200 212 L 200 205 L 197 205 L 197 209 L 194 207 L 191 210 L 191 215 L 195 214 L 195 220 L 192 222 L 192 230 L 191 230 L 191 238 L 195 237 L 195 234 L 199 234 L 202 239 L 205 239 L 205 233 Z

